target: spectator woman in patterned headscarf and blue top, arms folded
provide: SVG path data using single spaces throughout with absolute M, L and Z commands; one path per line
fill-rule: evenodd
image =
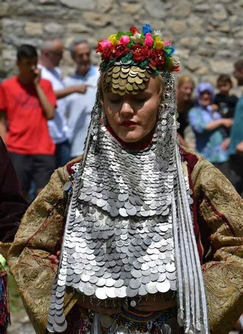
M 224 147 L 225 128 L 229 128 L 233 120 L 221 117 L 212 105 L 213 99 L 213 86 L 208 82 L 199 83 L 196 105 L 189 111 L 189 123 L 195 132 L 196 151 L 227 176 L 229 153 Z

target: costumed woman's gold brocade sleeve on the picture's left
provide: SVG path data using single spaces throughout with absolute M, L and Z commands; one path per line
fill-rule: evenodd
M 29 207 L 8 256 L 10 271 L 38 334 L 46 333 L 51 288 L 57 270 L 49 255 L 60 248 L 64 232 L 63 184 L 68 180 L 66 173 L 65 168 L 55 171 Z M 75 303 L 73 292 L 66 293 L 66 314 Z

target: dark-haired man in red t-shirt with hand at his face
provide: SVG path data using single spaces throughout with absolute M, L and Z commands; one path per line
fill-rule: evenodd
M 7 144 L 22 191 L 31 181 L 39 193 L 55 168 L 55 144 L 47 120 L 55 115 L 51 83 L 40 79 L 37 51 L 28 44 L 17 49 L 18 76 L 0 85 L 0 135 Z

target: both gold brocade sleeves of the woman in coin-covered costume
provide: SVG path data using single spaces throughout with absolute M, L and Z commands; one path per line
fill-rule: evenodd
M 228 334 L 243 311 L 242 200 L 211 163 L 199 157 L 192 173 L 199 215 L 212 233 L 214 261 L 203 266 L 212 334 Z M 48 255 L 64 231 L 67 169 L 54 172 L 22 219 L 8 262 L 37 334 L 46 333 L 50 292 L 56 272 Z M 240 251 L 241 249 L 241 251 Z M 1 251 L 1 245 L 0 245 Z M 65 296 L 65 313 L 76 303 Z

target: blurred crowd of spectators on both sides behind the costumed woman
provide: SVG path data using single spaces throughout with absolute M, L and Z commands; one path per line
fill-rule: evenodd
M 55 168 L 84 149 L 98 67 L 91 64 L 86 40 L 74 40 L 69 51 L 75 69 L 63 78 L 61 41 L 44 42 L 39 58 L 35 47 L 21 45 L 16 57 L 18 74 L 0 85 L 0 135 L 29 201 L 45 187 Z M 242 85 L 243 60 L 235 63 L 232 74 Z M 243 98 L 231 95 L 231 88 L 228 75 L 218 77 L 215 95 L 209 82 L 195 86 L 190 75 L 182 74 L 177 84 L 178 137 L 188 146 L 185 132 L 189 126 L 194 149 L 217 166 L 241 194 Z

